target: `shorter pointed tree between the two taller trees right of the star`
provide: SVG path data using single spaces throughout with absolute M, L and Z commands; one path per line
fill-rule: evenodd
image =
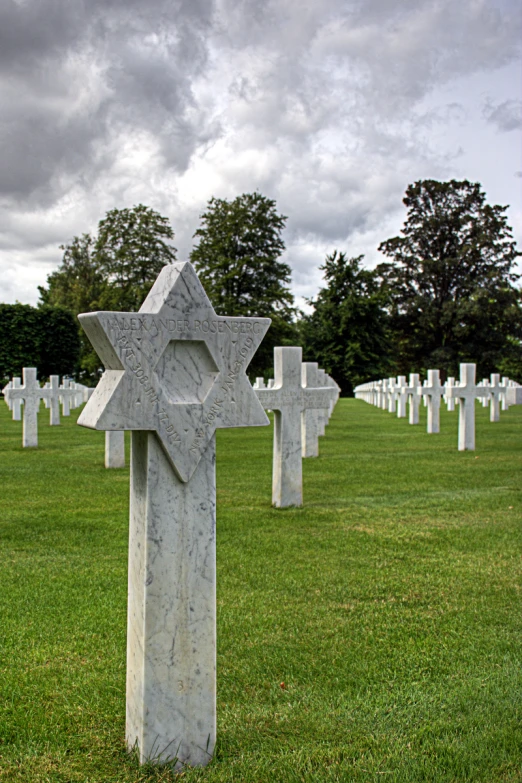
M 362 260 L 337 250 L 326 256 L 319 267 L 326 285 L 309 300 L 313 312 L 299 324 L 305 361 L 319 362 L 344 395 L 394 369 L 386 293 Z

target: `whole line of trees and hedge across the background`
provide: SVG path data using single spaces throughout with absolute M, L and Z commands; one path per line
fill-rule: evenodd
M 476 362 L 479 376 L 500 371 L 522 380 L 520 253 L 507 208 L 489 205 L 480 184 L 467 180 L 419 180 L 403 202 L 400 235 L 379 245 L 387 261 L 368 269 L 363 256 L 333 250 L 305 314 L 282 260 L 287 218 L 275 201 L 257 192 L 210 199 L 190 260 L 218 314 L 272 319 L 253 376 L 270 373 L 274 345 L 301 345 L 305 360 L 318 361 L 343 394 L 371 378 L 430 367 L 458 376 L 462 361 Z M 176 260 L 173 239 L 168 219 L 150 207 L 109 211 L 96 236 L 62 246 L 60 266 L 39 288 L 35 317 L 136 311 L 160 269 Z M 2 305 L 0 319 L 17 307 L 28 306 Z M 70 330 L 74 336 L 62 340 L 67 372 L 94 383 L 100 361 L 81 330 Z M 0 344 L 0 377 L 15 374 L 15 365 L 19 374 L 20 360 L 15 347 Z

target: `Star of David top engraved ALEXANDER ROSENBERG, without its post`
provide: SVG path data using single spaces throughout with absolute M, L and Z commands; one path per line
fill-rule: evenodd
M 216 429 L 268 423 L 245 370 L 270 319 L 217 316 L 191 264 L 164 267 L 139 313 L 79 319 L 106 371 L 78 424 L 156 432 L 181 481 Z

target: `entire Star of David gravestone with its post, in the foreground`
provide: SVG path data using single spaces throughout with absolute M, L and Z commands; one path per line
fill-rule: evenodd
M 267 318 L 217 316 L 194 268 L 162 269 L 139 313 L 79 320 L 105 365 L 78 423 L 132 430 L 129 749 L 204 765 L 216 737 L 215 431 L 268 419 L 246 368 Z

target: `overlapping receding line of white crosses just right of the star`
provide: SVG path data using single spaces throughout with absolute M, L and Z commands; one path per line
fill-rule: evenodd
M 275 378 L 254 389 L 263 408 L 274 411 L 272 503 L 303 505 L 303 457 L 319 455 L 319 437 L 339 398 L 339 387 L 317 362 L 302 361 L 302 349 L 274 348 Z

